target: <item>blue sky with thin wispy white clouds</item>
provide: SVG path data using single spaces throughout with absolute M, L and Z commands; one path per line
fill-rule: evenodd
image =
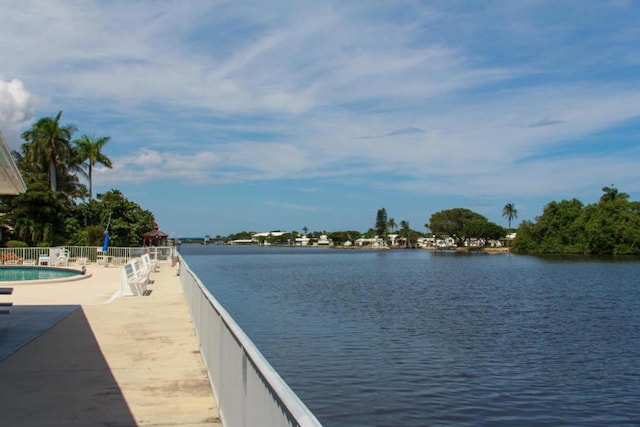
M 0 0 L 0 129 L 63 110 L 172 235 L 502 225 L 640 192 L 635 1 Z

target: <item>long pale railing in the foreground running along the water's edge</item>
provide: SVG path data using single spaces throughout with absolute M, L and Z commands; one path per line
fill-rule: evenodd
M 178 257 L 182 286 L 223 424 L 320 426 L 182 256 Z

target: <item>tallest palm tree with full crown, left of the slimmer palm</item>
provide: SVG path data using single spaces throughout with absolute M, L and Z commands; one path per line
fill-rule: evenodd
M 66 166 L 72 153 L 71 137 L 76 128 L 73 125 L 60 125 L 62 111 L 55 117 L 38 120 L 31 129 L 22 133 L 28 143 L 29 161 L 36 164 L 49 164 L 49 184 L 51 191 L 57 190 L 57 174 L 60 165 Z

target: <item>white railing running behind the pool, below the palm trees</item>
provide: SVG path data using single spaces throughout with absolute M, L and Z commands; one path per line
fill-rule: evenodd
M 175 247 L 171 246 L 110 247 L 106 252 L 103 252 L 101 247 L 94 246 L 0 248 L 0 265 L 41 265 L 46 259 L 46 265 L 49 266 L 91 263 L 119 266 L 145 253 L 158 261 L 170 260 L 174 251 Z

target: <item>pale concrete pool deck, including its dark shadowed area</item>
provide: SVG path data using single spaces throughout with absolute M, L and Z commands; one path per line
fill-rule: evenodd
M 0 425 L 221 426 L 175 267 L 145 297 L 118 297 L 120 268 L 87 274 L 3 285 Z

